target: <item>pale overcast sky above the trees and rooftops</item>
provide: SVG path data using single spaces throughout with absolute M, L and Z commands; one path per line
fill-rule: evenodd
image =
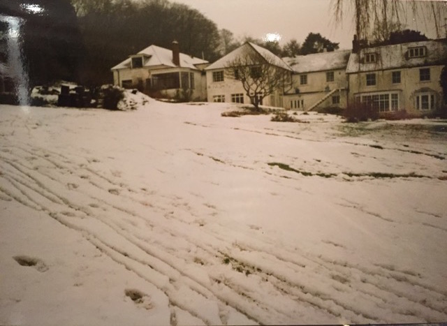
M 335 25 L 330 0 L 173 0 L 185 3 L 228 29 L 235 37 L 264 38 L 277 33 L 281 44 L 295 38 L 302 43 L 310 32 L 320 33 L 341 49 L 350 49 L 354 34 L 352 15 L 346 15 L 341 25 Z M 416 29 L 416 27 L 412 27 Z M 418 30 L 435 38 L 423 24 Z

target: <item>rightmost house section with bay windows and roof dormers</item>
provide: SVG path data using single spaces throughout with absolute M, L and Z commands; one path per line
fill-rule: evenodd
M 346 68 L 349 103 L 367 103 L 381 114 L 423 115 L 440 108 L 447 39 L 361 49 L 355 42 Z

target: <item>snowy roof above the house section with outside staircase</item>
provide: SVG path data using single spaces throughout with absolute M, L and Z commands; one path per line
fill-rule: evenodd
M 312 73 L 345 69 L 351 50 L 323 52 L 283 58 L 295 73 Z

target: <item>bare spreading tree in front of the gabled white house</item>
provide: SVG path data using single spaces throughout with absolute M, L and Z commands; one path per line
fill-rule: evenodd
M 263 98 L 291 87 L 291 72 L 273 54 L 244 51 L 227 63 L 226 77 L 240 80 L 255 110 Z

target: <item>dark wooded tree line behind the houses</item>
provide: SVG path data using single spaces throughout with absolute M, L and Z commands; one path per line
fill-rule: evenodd
M 333 51 L 339 47 L 318 33 L 309 33 L 302 43 L 293 39 L 282 46 L 277 41 L 237 39 L 228 29 L 218 29 L 198 10 L 168 0 L 34 0 L 33 3 L 28 8 L 23 1 L 0 0 L 0 13 L 24 21 L 20 41 L 31 87 L 54 80 L 86 86 L 110 83 L 112 66 L 152 44 L 170 48 L 173 40 L 179 41 L 181 52 L 210 62 L 245 41 L 261 45 L 279 57 Z M 386 31 L 388 34 L 379 33 L 376 39 L 386 42 L 388 36 L 395 36 L 389 28 Z

